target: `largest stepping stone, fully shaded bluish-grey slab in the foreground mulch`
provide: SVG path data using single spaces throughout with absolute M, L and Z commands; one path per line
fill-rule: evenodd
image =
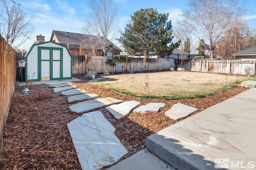
M 100 170 L 128 153 L 114 134 L 116 129 L 100 111 L 74 119 L 68 123 L 68 130 L 83 170 Z

